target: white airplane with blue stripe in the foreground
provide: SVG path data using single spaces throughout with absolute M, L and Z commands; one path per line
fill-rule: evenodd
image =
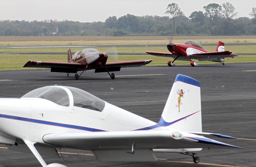
M 200 83 L 177 75 L 159 122 L 140 117 L 92 94 L 68 86 L 45 86 L 21 98 L 0 98 L 0 143 L 11 150 L 41 155 L 57 149 L 91 150 L 99 161 L 156 161 L 155 152 L 199 157 L 203 148 L 241 148 L 202 132 Z

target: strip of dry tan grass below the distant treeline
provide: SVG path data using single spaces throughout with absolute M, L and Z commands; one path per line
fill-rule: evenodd
M 196 40 L 199 43 L 256 43 L 256 36 L 35 36 L 0 37 L 0 46 L 60 46 L 60 45 L 131 45 L 131 44 L 168 44 Z

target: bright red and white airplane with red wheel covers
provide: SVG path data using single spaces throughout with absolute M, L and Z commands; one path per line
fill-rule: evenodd
M 146 53 L 154 56 L 172 57 L 174 60 L 167 63 L 169 67 L 175 66 L 173 63 L 175 60 L 190 61 L 191 66 L 198 66 L 198 64 L 191 59 L 196 59 L 198 61 L 220 62 L 224 65 L 225 57 L 234 58 L 238 56 L 233 52 L 224 51 L 224 43 L 221 41 L 219 41 L 215 52 L 209 52 L 208 50 L 205 50 L 202 45 L 194 40 L 187 40 L 183 44 L 170 43 L 167 45 L 167 49 L 171 53 L 150 51 L 146 51 Z

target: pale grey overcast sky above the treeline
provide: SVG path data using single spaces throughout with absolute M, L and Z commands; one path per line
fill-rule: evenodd
M 176 3 L 188 17 L 193 11 L 203 11 L 211 4 L 233 4 L 237 17 L 252 18 L 249 13 L 256 7 L 256 0 L 0 0 L 0 20 L 73 20 L 104 22 L 109 16 L 117 18 L 127 13 L 135 16 L 164 14 L 168 4 Z

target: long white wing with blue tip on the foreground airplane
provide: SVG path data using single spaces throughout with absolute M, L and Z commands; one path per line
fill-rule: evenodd
M 240 148 L 218 142 L 202 135 L 174 130 L 140 130 L 116 132 L 88 132 L 46 134 L 44 142 L 59 146 L 86 150 L 177 149 L 177 148 Z

